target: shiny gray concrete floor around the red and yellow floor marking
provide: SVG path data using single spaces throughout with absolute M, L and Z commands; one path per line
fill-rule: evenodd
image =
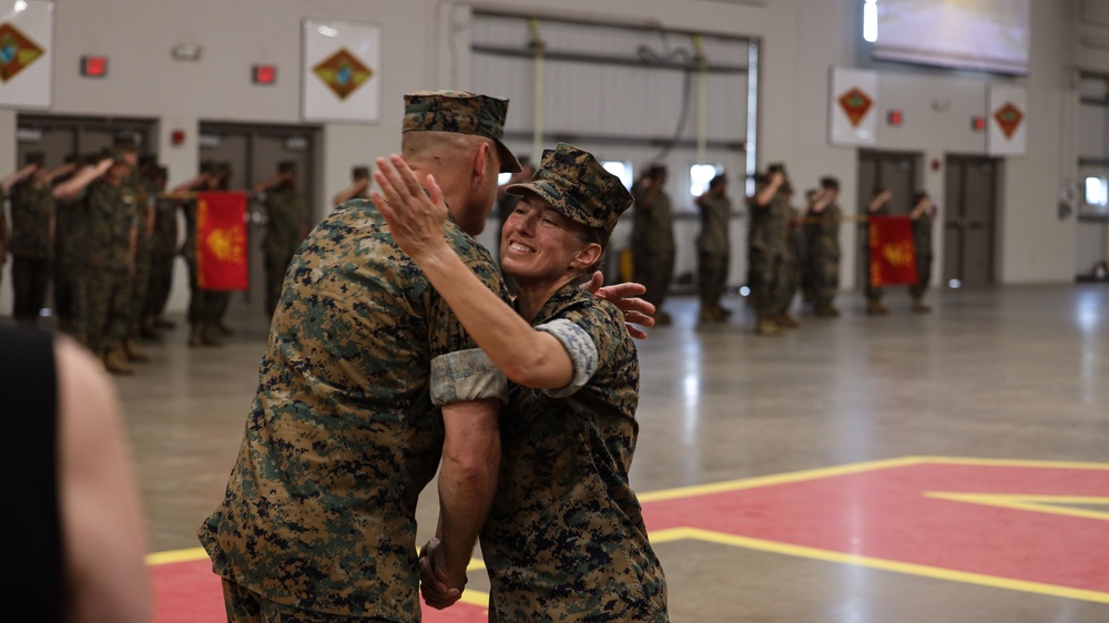
M 932 314 L 912 314 L 892 288 L 891 315 L 867 317 L 845 293 L 842 317 L 800 310 L 800 328 L 760 337 L 742 298 L 725 300 L 730 323 L 708 327 L 692 298 L 672 298 L 673 326 L 639 343 L 632 484 L 650 496 L 910 456 L 1109 464 L 1109 285 L 929 299 Z M 253 313 L 231 324 L 224 347 L 200 349 L 179 324 L 118 378 L 155 552 L 196 547 L 235 457 L 266 327 Z M 420 503 L 420 542 L 434 494 Z M 1109 591 L 1072 599 L 709 542 L 658 553 L 675 622 L 1109 621 Z M 1095 573 L 1109 576 L 1109 564 Z M 471 573 L 470 588 L 487 585 Z

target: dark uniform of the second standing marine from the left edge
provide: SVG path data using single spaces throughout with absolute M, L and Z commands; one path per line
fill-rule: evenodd
M 89 202 L 58 200 L 54 231 L 54 312 L 59 327 L 84 340 L 88 333 Z

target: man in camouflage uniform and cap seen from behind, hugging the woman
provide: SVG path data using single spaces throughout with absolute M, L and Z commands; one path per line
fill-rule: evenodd
M 498 172 L 519 170 L 500 142 L 507 108 L 411 93 L 401 142 L 419 178 L 434 174 L 442 188 L 451 246 L 502 297 L 500 270 L 471 235 Z M 199 531 L 228 619 L 419 621 L 417 497 L 441 455 L 438 550 L 464 582 L 492 497 L 507 382 L 373 202 L 326 217 L 287 275 L 225 500 Z

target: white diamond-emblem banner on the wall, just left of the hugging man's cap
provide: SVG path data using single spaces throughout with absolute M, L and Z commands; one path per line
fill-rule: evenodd
M 381 29 L 304 20 L 301 116 L 304 121 L 377 123 L 381 113 Z

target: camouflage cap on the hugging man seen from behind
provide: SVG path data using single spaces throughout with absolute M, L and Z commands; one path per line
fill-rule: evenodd
M 519 173 L 516 154 L 501 142 L 508 100 L 465 91 L 417 91 L 405 94 L 401 132 L 458 132 L 492 139 L 501 173 Z

